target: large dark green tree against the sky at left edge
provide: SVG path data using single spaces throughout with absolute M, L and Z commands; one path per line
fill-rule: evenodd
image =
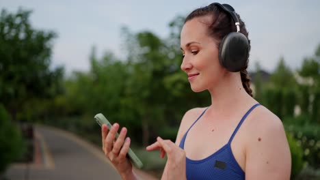
M 6 10 L 0 17 L 0 102 L 12 120 L 24 116 L 27 103 L 53 97 L 62 91 L 63 68 L 51 70 L 52 31 L 34 29 L 29 23 L 31 11 Z M 18 114 L 22 114 L 17 117 Z M 29 117 L 30 118 L 30 117 Z

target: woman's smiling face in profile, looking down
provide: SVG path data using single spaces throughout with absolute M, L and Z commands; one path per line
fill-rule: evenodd
M 181 31 L 183 62 L 192 91 L 200 92 L 217 85 L 225 72 L 219 63 L 219 52 L 213 37 L 208 35 L 209 17 L 193 18 Z

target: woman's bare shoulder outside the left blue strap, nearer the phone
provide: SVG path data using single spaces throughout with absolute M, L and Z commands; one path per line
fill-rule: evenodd
M 181 120 L 178 135 L 176 136 L 176 144 L 180 143 L 181 138 L 187 132 L 188 128 L 196 121 L 196 119 L 204 112 L 206 108 L 191 108 L 185 112 Z

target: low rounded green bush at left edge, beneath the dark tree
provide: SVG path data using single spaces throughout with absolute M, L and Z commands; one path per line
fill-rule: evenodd
M 0 175 L 9 164 L 18 160 L 24 148 L 21 132 L 10 121 L 10 115 L 0 104 Z

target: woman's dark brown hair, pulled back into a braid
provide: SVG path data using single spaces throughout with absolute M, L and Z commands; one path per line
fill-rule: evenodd
M 204 17 L 204 16 L 212 16 L 213 22 L 211 25 L 209 25 L 209 35 L 213 37 L 217 41 L 217 47 L 219 47 L 222 39 L 224 36 L 228 35 L 228 33 L 237 31 L 237 27 L 235 26 L 235 23 L 233 22 L 231 15 L 228 14 L 228 12 L 225 12 L 222 10 L 221 7 L 217 5 L 207 5 L 205 7 L 200 7 L 193 12 L 191 12 L 187 18 L 185 19 L 185 23 L 187 21 L 198 18 L 198 17 Z M 239 19 L 240 23 L 240 33 L 243 33 L 245 37 L 248 38 L 248 31 L 245 29 L 245 24 L 241 20 L 239 14 L 237 14 L 237 17 Z M 248 39 L 249 40 L 249 39 Z M 250 40 L 249 40 L 249 51 L 250 51 Z M 245 65 L 245 68 L 240 71 L 241 75 L 241 82 L 243 85 L 243 88 L 249 95 L 252 96 L 252 90 L 250 89 L 250 77 L 247 72 L 249 59 L 247 60 L 247 63 Z

